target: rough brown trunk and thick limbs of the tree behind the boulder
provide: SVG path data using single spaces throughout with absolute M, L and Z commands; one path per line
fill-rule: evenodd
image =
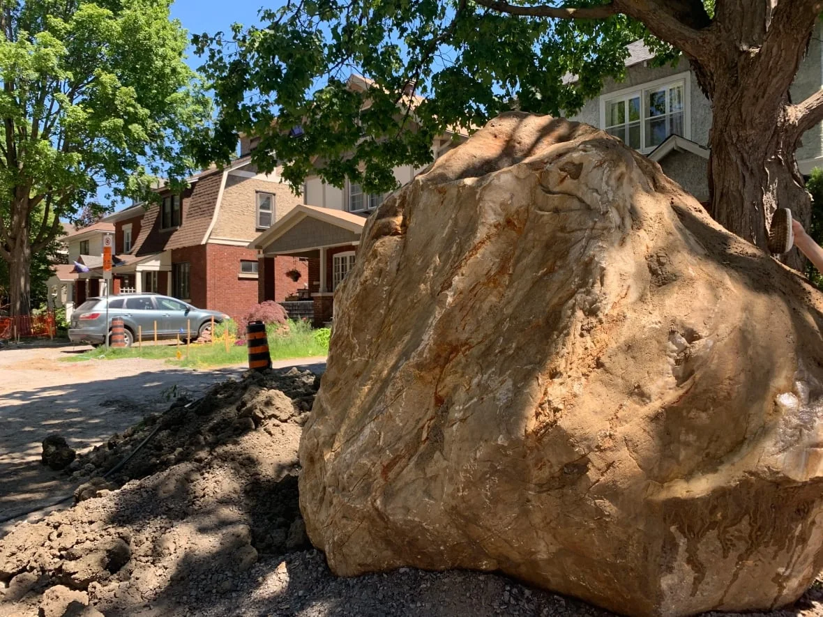
M 802 133 L 823 121 L 823 91 L 792 104 L 789 88 L 805 55 L 823 0 L 717 0 L 714 18 L 701 0 L 612 0 L 592 9 L 483 6 L 516 15 L 642 21 L 689 59 L 712 102 L 709 211 L 743 239 L 766 248 L 774 210 L 791 208 L 804 225 L 810 198 L 795 152 Z M 787 260 L 798 267 L 793 252 Z

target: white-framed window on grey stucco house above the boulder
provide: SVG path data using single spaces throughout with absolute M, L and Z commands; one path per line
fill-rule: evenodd
M 690 138 L 689 76 L 653 81 L 600 97 L 602 128 L 627 146 L 652 151 L 670 135 Z

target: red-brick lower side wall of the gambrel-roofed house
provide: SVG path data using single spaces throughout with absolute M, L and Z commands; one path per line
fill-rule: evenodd
M 240 276 L 240 261 L 257 262 L 251 248 L 206 244 L 208 292 L 205 308 L 223 311 L 237 319 L 258 304 L 258 278 Z

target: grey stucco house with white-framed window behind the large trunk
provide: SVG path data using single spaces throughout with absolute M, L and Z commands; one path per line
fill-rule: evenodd
M 817 26 L 807 57 L 797 71 L 792 100 L 804 100 L 823 86 L 823 29 Z M 700 91 L 689 60 L 653 67 L 654 54 L 642 41 L 628 46 L 625 81 L 607 81 L 596 98 L 570 116 L 605 129 L 648 155 L 663 172 L 700 202 L 709 201 L 710 101 Z M 571 79 L 574 79 L 573 77 Z M 811 128 L 797 151 L 802 174 L 823 165 L 823 131 Z

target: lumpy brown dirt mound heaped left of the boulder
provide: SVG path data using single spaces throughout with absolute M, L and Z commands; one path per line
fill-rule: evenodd
M 68 591 L 132 615 L 185 601 L 181 588 L 228 591 L 260 555 L 304 546 L 297 445 L 314 383 L 247 373 L 80 457 L 80 503 L 0 540 L 0 615 L 63 615 Z

